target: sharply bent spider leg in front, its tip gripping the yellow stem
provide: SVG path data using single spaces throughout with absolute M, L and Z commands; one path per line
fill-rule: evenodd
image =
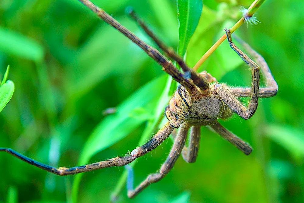
M 248 107 L 246 108 L 230 91 L 230 88 L 225 85 L 217 84 L 216 92 L 223 99 L 223 101 L 237 113 L 240 117 L 244 119 L 249 119 L 257 110 L 257 101 L 259 96 L 259 86 L 260 86 L 260 66 L 258 66 L 254 61 L 252 61 L 243 51 L 241 51 L 231 40 L 230 30 L 225 29 L 227 39 L 229 41 L 230 47 L 239 54 L 239 56 L 251 67 L 251 90 L 250 90 L 250 101 Z

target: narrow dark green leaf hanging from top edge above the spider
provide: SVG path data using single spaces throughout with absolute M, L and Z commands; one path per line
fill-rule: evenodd
M 188 43 L 202 14 L 202 0 L 177 0 L 178 5 L 178 54 L 185 55 Z

